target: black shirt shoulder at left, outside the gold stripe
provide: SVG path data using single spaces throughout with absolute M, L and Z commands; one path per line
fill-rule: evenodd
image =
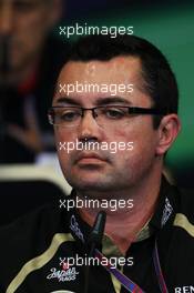
M 38 257 L 50 246 L 59 246 L 64 242 L 64 235 L 69 232 L 65 218 L 68 219 L 68 213 L 47 204 L 0 228 L 2 284 L 7 285 L 29 260 Z

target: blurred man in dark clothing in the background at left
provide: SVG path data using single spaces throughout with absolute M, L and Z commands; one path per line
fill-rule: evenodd
M 1 163 L 33 162 L 48 148 L 47 108 L 67 50 L 48 36 L 60 16 L 60 0 L 0 0 Z

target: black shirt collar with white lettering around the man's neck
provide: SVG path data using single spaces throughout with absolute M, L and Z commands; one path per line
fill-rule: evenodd
M 75 199 L 75 191 L 73 190 L 70 195 Z M 161 182 L 161 189 L 159 194 L 159 202 L 153 216 L 139 232 L 135 242 L 143 241 L 150 238 L 152 234 L 157 233 L 164 228 L 171 225 L 174 221 L 176 212 L 176 196 L 175 188 L 172 186 L 163 176 Z M 69 228 L 73 238 L 83 247 L 86 239 L 90 235 L 91 226 L 84 222 L 75 208 L 69 212 Z M 121 254 L 116 245 L 109 239 L 108 235 L 103 236 L 103 253 L 104 255 L 119 255 Z

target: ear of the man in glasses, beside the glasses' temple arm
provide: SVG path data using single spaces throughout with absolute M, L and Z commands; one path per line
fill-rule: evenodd
M 160 123 L 156 155 L 163 155 L 171 148 L 181 130 L 181 122 L 176 114 L 165 115 Z

